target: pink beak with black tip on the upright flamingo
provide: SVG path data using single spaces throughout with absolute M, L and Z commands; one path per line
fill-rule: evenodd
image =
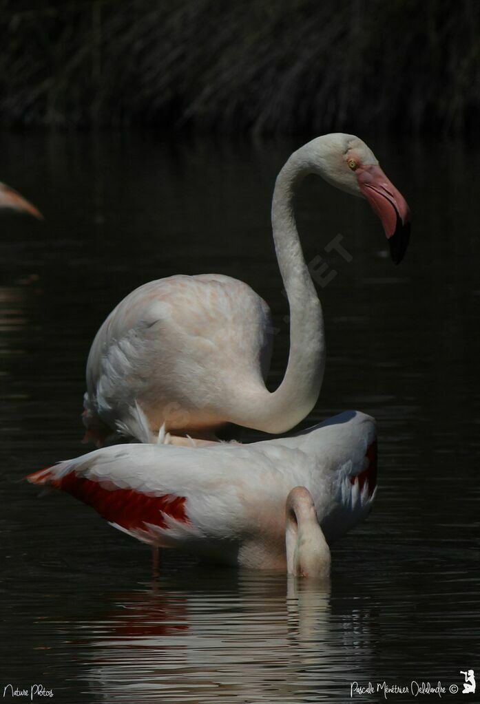
M 382 222 L 392 259 L 395 264 L 399 264 L 410 239 L 410 210 L 407 201 L 379 165 L 359 165 L 355 175 L 362 194 Z

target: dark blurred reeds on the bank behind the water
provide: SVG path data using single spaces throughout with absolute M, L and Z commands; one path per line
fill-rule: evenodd
M 0 0 L 0 123 L 468 132 L 477 0 Z

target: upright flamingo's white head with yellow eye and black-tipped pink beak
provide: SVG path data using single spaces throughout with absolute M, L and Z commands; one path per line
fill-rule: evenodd
M 400 263 L 410 238 L 410 210 L 367 144 L 354 134 L 339 132 L 317 137 L 297 153 L 328 183 L 369 201 L 382 222 L 392 259 Z

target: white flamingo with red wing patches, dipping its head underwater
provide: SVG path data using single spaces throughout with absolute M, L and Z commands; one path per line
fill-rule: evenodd
M 72 494 L 154 548 L 325 579 L 327 542 L 374 501 L 376 429 L 373 418 L 347 411 L 248 445 L 106 446 L 27 479 Z

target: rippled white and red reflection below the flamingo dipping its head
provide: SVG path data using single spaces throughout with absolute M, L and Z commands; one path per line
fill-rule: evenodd
M 237 584 L 224 575 L 220 589 L 209 575 L 197 576 L 197 593 L 160 583 L 112 595 L 115 608 L 89 626 L 92 691 L 125 702 L 319 700 L 319 681 L 328 692 L 345 647 L 329 592 L 278 575 L 240 574 Z

